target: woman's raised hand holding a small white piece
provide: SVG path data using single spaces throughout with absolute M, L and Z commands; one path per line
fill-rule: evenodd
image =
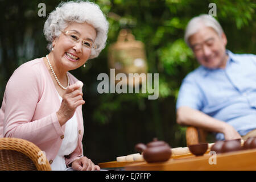
M 59 119 L 60 126 L 64 125 L 75 114 L 76 108 L 85 101 L 82 99 L 82 82 L 77 81 L 75 84 L 70 85 L 63 94 L 60 109 L 57 111 L 57 118 Z

